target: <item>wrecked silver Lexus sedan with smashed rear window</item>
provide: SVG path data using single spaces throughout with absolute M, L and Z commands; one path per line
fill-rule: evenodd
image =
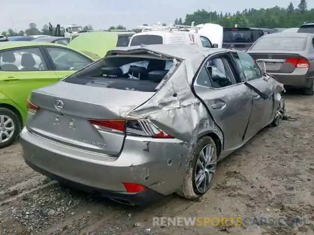
M 205 194 L 217 162 L 285 111 L 283 85 L 246 52 L 183 45 L 116 48 L 32 92 L 26 164 L 129 205 Z

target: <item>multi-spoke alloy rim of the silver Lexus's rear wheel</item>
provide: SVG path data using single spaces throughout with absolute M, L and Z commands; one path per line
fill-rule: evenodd
M 200 193 L 206 192 L 216 171 L 217 157 L 212 144 L 205 145 L 197 159 L 195 169 L 195 185 Z

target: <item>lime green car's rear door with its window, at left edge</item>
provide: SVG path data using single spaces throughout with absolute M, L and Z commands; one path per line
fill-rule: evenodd
M 32 90 L 58 81 L 40 47 L 21 47 L 0 51 L 0 92 L 26 111 Z

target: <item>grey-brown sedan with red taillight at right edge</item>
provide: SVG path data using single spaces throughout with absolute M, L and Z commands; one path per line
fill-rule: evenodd
M 287 88 L 314 94 L 314 34 L 274 33 L 259 38 L 247 51 L 264 62 L 267 73 Z

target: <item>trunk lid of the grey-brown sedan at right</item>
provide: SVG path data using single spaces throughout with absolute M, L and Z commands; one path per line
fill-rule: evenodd
M 265 62 L 266 71 L 269 73 L 292 73 L 295 67 L 291 63 L 286 63 L 287 59 L 298 59 L 300 53 L 248 51 L 257 62 Z

